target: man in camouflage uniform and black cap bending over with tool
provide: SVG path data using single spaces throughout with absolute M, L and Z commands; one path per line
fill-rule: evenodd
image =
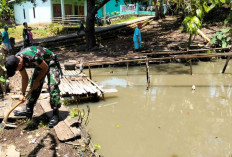
M 60 83 L 60 69 L 59 63 L 56 60 L 56 55 L 44 47 L 31 46 L 21 50 L 16 55 L 7 57 L 5 67 L 7 69 L 8 77 L 13 76 L 15 71 L 20 72 L 22 76 L 23 93 L 20 100 L 22 101 L 25 101 L 25 91 L 29 82 L 25 68 L 35 68 L 30 80 L 31 89 L 33 89 L 33 91 L 28 97 L 26 109 L 22 111 L 14 111 L 15 116 L 32 117 L 34 105 L 39 98 L 45 76 L 47 75 L 50 105 L 53 109 L 53 116 L 49 122 L 49 127 L 55 126 L 59 122 L 58 109 L 61 106 L 60 90 L 58 87 Z

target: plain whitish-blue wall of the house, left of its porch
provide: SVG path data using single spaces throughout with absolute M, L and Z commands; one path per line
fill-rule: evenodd
M 37 3 L 36 6 L 33 6 L 31 2 L 25 2 L 25 3 L 14 5 L 16 24 L 23 24 L 23 22 L 27 22 L 28 24 L 51 22 L 50 0 L 47 0 L 44 3 L 41 0 L 37 0 L 36 3 Z M 25 12 L 25 17 L 24 17 L 24 12 Z M 34 13 L 35 13 L 35 17 L 34 17 Z

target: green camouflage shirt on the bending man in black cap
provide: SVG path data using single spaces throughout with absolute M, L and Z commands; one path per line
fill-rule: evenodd
M 54 53 L 44 47 L 31 46 L 18 52 L 16 56 L 23 58 L 23 67 L 34 68 L 43 61 L 49 65 L 53 60 Z

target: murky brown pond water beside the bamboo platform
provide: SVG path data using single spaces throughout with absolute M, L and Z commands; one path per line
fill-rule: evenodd
M 87 126 L 105 157 L 231 157 L 232 68 L 225 60 L 92 69 L 93 80 L 118 92 L 90 106 Z M 88 74 L 88 71 L 85 71 Z M 192 90 L 195 85 L 195 90 Z

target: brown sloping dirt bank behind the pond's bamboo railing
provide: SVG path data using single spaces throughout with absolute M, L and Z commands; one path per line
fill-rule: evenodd
M 151 49 L 154 52 L 163 50 L 186 50 L 189 35 L 183 31 L 181 22 L 181 19 L 174 16 L 167 16 L 165 19 L 152 21 L 143 27 L 141 33 L 144 49 Z M 224 26 L 217 23 L 215 26 L 207 25 L 206 27 L 203 27 L 201 30 L 210 38 Z M 192 43 L 195 46 L 197 44 L 205 44 L 204 39 L 199 35 L 195 37 Z M 83 62 L 123 56 L 133 51 L 133 34 L 127 36 L 119 34 L 116 39 L 102 40 L 100 45 L 102 48 L 92 52 L 85 51 L 85 45 L 77 47 L 61 46 L 55 53 L 58 54 L 61 61 L 67 61 L 72 58 L 72 60 L 82 60 Z

